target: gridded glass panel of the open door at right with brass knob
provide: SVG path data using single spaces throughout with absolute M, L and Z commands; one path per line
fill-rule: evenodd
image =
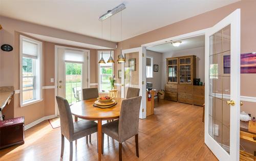
M 227 152 L 230 152 L 230 25 L 209 37 L 209 134 Z M 229 64 L 223 63 L 229 58 Z

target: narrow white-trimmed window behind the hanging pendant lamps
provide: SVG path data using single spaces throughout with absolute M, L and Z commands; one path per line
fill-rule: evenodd
M 108 63 L 110 51 L 98 51 L 98 61 L 101 58 L 101 52 L 105 64 L 98 66 L 98 88 L 100 93 L 107 93 L 111 90 L 109 77 L 114 74 L 114 63 Z M 112 51 L 112 57 L 114 58 L 114 51 Z

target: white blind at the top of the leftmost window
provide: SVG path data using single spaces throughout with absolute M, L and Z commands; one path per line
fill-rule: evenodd
M 24 57 L 37 59 L 38 45 L 36 43 L 23 40 L 22 42 L 22 53 Z

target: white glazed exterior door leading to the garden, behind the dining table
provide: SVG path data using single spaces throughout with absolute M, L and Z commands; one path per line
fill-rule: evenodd
M 82 100 L 82 88 L 88 87 L 87 50 L 57 48 L 57 96 L 69 104 Z

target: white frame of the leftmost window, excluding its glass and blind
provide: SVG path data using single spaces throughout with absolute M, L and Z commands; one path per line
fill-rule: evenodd
M 34 65 L 33 65 L 33 76 L 28 76 L 28 77 L 33 77 L 33 99 L 32 100 L 27 100 L 23 101 L 23 91 L 28 91 L 28 90 L 23 90 L 23 78 L 26 78 L 27 76 L 23 77 L 23 40 L 29 41 L 32 43 L 37 44 L 37 59 L 33 59 Z M 25 58 L 28 58 L 25 56 Z M 19 36 L 19 101 L 20 101 L 20 107 L 24 107 L 36 102 L 42 101 L 42 42 L 37 41 L 35 39 L 26 37 L 24 35 Z

